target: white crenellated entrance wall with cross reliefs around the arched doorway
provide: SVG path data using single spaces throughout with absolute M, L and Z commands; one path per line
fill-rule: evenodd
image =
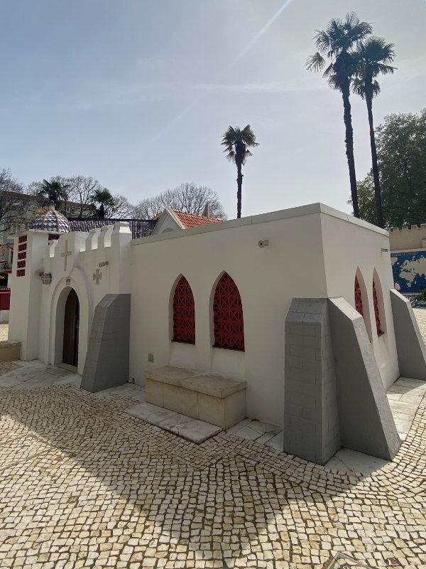
M 92 327 L 94 307 L 109 292 L 130 292 L 131 232 L 124 223 L 89 233 L 64 233 L 48 247 L 48 233 L 28 231 L 26 276 L 16 277 L 16 260 L 11 279 L 9 339 L 21 341 L 22 358 L 39 358 L 45 363 L 62 361 L 65 300 L 75 289 L 80 303 L 78 373 L 82 373 Z M 71 255 L 65 259 L 61 253 Z M 16 248 L 17 250 L 17 248 Z M 99 263 L 108 265 L 99 267 Z M 38 272 L 52 275 L 43 285 Z M 102 273 L 94 282 L 96 270 Z

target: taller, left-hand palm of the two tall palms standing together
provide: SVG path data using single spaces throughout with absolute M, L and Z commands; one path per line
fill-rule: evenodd
M 314 53 L 307 62 L 307 69 L 319 71 L 328 62 L 324 77 L 330 87 L 342 93 L 344 109 L 344 126 L 346 130 L 346 158 L 349 168 L 352 204 L 354 216 L 359 218 L 358 193 L 356 191 L 356 174 L 354 160 L 354 130 L 352 129 L 351 102 L 349 100 L 351 80 L 354 77 L 355 63 L 354 47 L 364 40 L 372 31 L 371 24 L 359 21 L 358 16 L 351 12 L 344 20 L 332 19 L 325 30 L 317 30 Z

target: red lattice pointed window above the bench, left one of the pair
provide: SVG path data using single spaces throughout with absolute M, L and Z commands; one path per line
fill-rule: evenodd
M 173 341 L 195 344 L 194 295 L 185 277 L 180 277 L 173 297 Z

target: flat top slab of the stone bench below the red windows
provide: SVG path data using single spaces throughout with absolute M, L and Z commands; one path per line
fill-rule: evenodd
M 245 381 L 173 366 L 163 366 L 147 371 L 146 378 L 221 399 L 236 393 L 236 391 L 246 389 Z

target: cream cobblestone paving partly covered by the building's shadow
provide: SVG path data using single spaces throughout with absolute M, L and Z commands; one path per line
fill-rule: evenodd
M 426 567 L 425 398 L 363 476 L 229 432 L 194 445 L 124 413 L 131 385 L 0 366 L 1 568 Z

